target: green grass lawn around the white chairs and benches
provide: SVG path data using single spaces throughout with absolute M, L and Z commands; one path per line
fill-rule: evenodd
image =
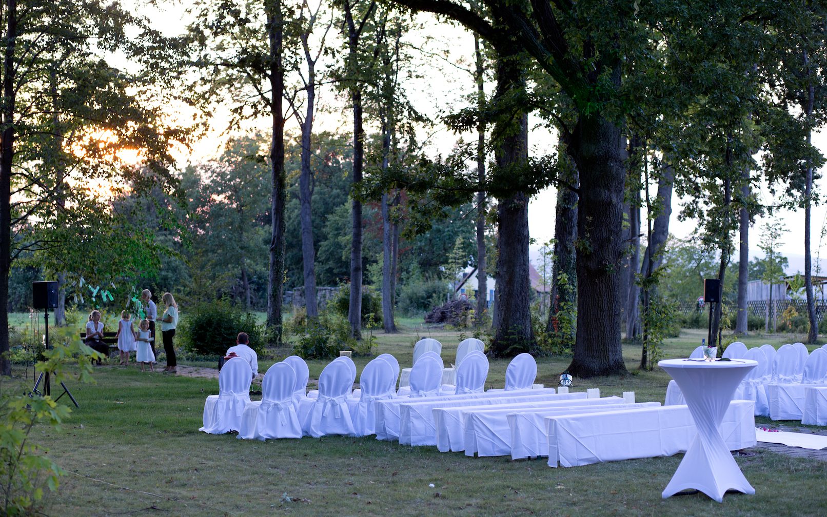
M 458 333 L 412 327 L 379 333 L 379 352 L 409 366 L 416 338 L 431 336 L 442 341 L 446 363 L 452 360 Z M 704 335 L 685 331 L 667 343 L 665 356 L 686 357 Z M 791 340 L 752 337 L 747 344 L 767 341 Z M 663 401 L 669 377 L 637 371 L 639 352 L 624 345 L 629 376 L 575 379 L 574 389 L 634 390 L 638 401 Z M 263 358 L 260 371 L 286 355 L 285 348 Z M 356 357 L 360 371 L 367 361 Z M 310 361 L 310 375 L 318 376 L 324 364 Z M 562 357 L 539 359 L 538 382 L 556 385 L 567 364 Z M 506 366 L 491 362 L 489 385 L 502 387 Z M 680 456 L 550 468 L 544 459 L 472 458 L 375 438 L 242 441 L 198 432 L 204 398 L 218 393 L 216 380 L 141 373 L 134 366 L 98 368 L 95 377 L 96 385 L 69 382 L 80 409 L 60 431 L 33 433 L 69 472 L 59 493 L 49 496 L 48 515 L 782 516 L 825 515 L 827 508 L 827 463 L 772 452 L 737 458 L 756 495 L 727 495 L 723 504 L 705 495 L 662 500 Z

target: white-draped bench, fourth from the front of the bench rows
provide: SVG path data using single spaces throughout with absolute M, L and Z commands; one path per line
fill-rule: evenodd
M 512 391 L 512 393 L 514 393 Z M 520 410 L 543 410 L 560 407 L 580 407 L 581 405 L 607 405 L 617 404 L 623 401 L 619 397 L 607 397 L 605 399 L 576 398 L 564 400 L 528 400 L 526 402 L 512 402 L 494 405 L 471 405 L 458 407 L 435 408 L 433 412 L 433 425 L 437 431 L 437 449 L 439 452 L 460 452 L 465 450 L 465 423 L 468 414 L 479 411 L 497 412 L 504 411 L 506 414 Z

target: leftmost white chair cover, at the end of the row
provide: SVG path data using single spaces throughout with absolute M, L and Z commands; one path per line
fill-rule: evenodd
M 250 402 L 253 371 L 250 363 L 233 357 L 218 372 L 218 395 L 209 395 L 204 402 L 203 427 L 199 431 L 223 434 L 241 428 L 241 416 Z

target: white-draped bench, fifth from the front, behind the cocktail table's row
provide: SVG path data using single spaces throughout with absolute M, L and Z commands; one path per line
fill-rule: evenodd
M 583 398 L 581 393 L 552 393 L 529 395 L 528 391 L 504 391 L 509 393 L 503 399 L 484 398 L 478 400 L 425 401 L 403 403 L 399 406 L 399 443 L 402 445 L 436 445 L 437 426 L 433 420 L 434 408 L 463 407 L 477 405 L 510 404 L 541 400 L 571 400 Z

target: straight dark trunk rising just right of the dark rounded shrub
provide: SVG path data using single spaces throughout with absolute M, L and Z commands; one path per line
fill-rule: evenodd
M 284 67 L 282 41 L 284 19 L 280 0 L 265 2 L 267 36 L 270 44 L 270 112 L 272 136 L 270 141 L 270 271 L 267 276 L 267 326 L 272 329 L 270 345 L 279 346 L 282 334 L 282 303 L 284 294 Z

